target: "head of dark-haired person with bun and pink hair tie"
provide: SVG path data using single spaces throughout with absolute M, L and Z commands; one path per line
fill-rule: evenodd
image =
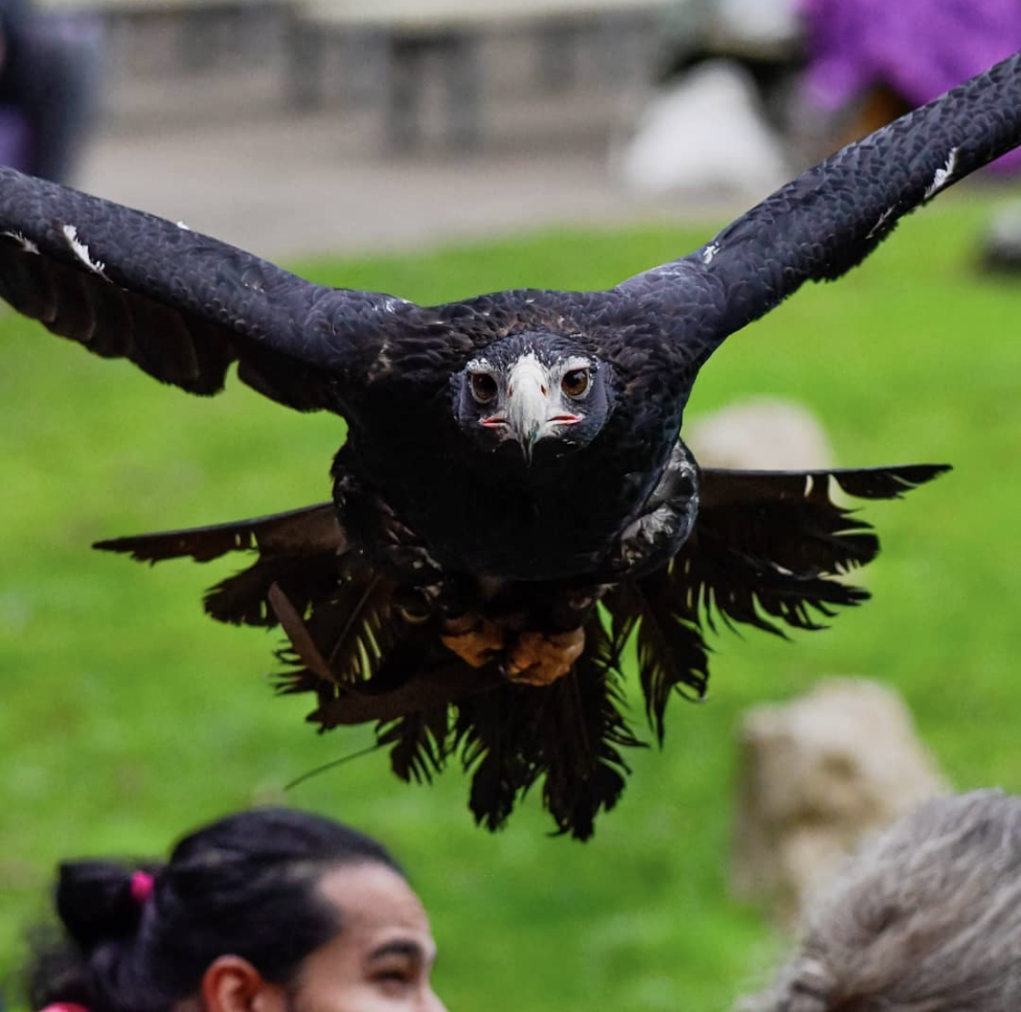
M 376 840 L 321 816 L 228 816 L 162 865 L 67 861 L 55 902 L 62 937 L 36 954 L 34 1010 L 443 1008 L 429 920 L 403 872 Z

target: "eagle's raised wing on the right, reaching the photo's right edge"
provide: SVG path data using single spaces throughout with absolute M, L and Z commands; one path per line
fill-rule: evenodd
M 1021 54 L 849 144 L 679 260 L 616 291 L 647 301 L 700 365 L 795 292 L 838 278 L 897 220 L 1021 144 Z

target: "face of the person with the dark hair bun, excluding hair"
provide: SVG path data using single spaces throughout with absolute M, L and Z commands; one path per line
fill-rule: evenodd
M 320 891 L 340 912 L 340 930 L 302 964 L 295 1012 L 444 1012 L 429 982 L 429 918 L 407 882 L 382 864 L 346 865 L 327 872 Z

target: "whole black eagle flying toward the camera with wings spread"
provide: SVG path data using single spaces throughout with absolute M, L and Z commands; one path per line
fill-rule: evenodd
M 878 542 L 831 498 L 900 495 L 936 466 L 699 469 L 678 438 L 698 370 L 806 281 L 1021 143 L 1021 56 L 849 145 L 704 246 L 607 291 L 422 306 L 309 284 L 152 215 L 0 170 L 0 295 L 96 354 L 213 394 L 242 382 L 342 415 L 333 502 L 100 543 L 156 561 L 257 558 L 206 609 L 280 624 L 281 685 L 324 728 L 376 721 L 401 777 L 452 757 L 490 828 L 541 783 L 563 831 L 619 799 L 620 657 L 635 634 L 662 738 L 708 677 L 714 616 L 818 628 L 867 594 Z

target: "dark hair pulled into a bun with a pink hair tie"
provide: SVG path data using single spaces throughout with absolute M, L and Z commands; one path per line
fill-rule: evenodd
M 317 890 L 321 876 L 389 853 L 347 826 L 292 809 L 254 809 L 196 830 L 164 865 L 68 861 L 55 905 L 62 926 L 29 973 L 29 1002 L 72 1002 L 90 1012 L 167 1012 L 195 995 L 218 956 L 248 960 L 273 983 L 342 928 Z M 139 870 L 151 894 L 133 888 Z

